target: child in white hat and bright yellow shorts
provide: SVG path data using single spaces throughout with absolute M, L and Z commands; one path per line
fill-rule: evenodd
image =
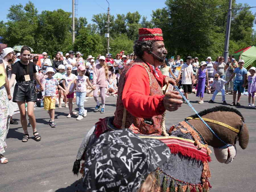
M 59 85 L 58 80 L 53 78 L 54 73 L 55 72 L 52 67 L 47 67 L 46 75 L 48 77 L 45 78 L 42 82 L 42 85 L 44 87 L 44 91 L 42 91 L 42 97 L 44 99 L 44 109 L 49 111 L 50 120 L 48 124 L 51 127 L 56 127 L 56 123 L 54 122 L 56 86 L 66 94 L 66 90 Z

